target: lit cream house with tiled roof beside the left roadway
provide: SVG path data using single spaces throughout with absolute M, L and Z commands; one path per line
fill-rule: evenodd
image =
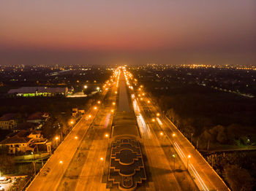
M 50 152 L 48 139 L 43 139 L 40 130 L 21 130 L 0 142 L 1 147 L 7 147 L 9 154 L 38 151 L 39 144 L 45 144 L 48 152 Z

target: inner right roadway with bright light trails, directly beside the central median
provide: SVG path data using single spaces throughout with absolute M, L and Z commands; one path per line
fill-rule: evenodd
M 146 159 L 148 163 L 148 170 L 151 174 L 151 181 L 149 182 L 148 189 L 150 190 L 197 190 L 194 182 L 192 181 L 187 171 L 184 171 L 184 165 L 179 172 L 173 171 L 173 160 L 167 157 L 165 150 L 159 140 L 159 133 L 154 131 L 154 127 L 150 120 L 147 120 L 144 115 L 143 106 L 140 105 L 139 99 L 132 95 L 133 91 L 130 90 L 132 105 L 137 117 L 140 134 L 142 136 L 142 143 L 146 152 Z M 166 142 L 164 147 L 168 147 Z M 182 176 L 182 179 L 177 179 Z M 149 178 L 149 177 L 148 177 Z

